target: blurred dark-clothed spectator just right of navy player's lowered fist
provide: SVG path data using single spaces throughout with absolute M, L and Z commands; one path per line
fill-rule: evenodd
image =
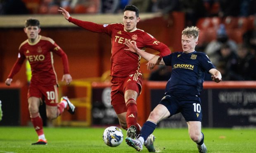
M 228 45 L 223 44 L 220 47 L 220 59 L 218 60 L 217 67 L 220 68 L 222 79 L 225 81 L 235 79 L 235 66 L 237 65 L 237 55 L 234 50 Z

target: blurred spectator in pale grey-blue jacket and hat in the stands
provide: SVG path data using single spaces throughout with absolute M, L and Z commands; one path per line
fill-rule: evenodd
M 217 39 L 211 41 L 205 49 L 205 53 L 210 57 L 210 60 L 214 65 L 218 65 L 218 60 L 221 56 L 218 51 L 220 51 L 220 47 L 223 44 L 228 44 L 232 51 L 237 51 L 237 44 L 229 39 L 224 24 L 220 24 L 217 31 Z

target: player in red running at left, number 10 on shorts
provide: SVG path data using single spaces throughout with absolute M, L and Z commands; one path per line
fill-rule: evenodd
M 38 141 L 33 144 L 47 144 L 43 132 L 43 121 L 39 114 L 40 103 L 45 101 L 47 118 L 55 119 L 62 114 L 64 108 L 69 113 L 75 113 L 75 107 L 67 97 L 62 97 L 58 104 L 57 75 L 53 67 L 53 55 L 56 53 L 62 58 L 64 75 L 62 81 L 69 84 L 72 77 L 69 74 L 68 58 L 66 53 L 50 38 L 38 35 L 40 23 L 37 19 L 28 19 L 24 32 L 28 39 L 19 46 L 18 59 L 5 81 L 10 86 L 12 77 L 19 72 L 24 60 L 31 65 L 32 78 L 28 89 L 28 110 L 33 126 L 38 134 Z

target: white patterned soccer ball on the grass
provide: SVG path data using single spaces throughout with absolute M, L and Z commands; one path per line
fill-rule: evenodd
M 104 130 L 103 141 L 107 146 L 116 147 L 123 141 L 123 133 L 119 127 L 110 126 Z

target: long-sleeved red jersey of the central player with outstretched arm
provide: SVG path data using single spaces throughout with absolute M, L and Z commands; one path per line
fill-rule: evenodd
M 100 25 L 88 21 L 81 21 L 69 18 L 69 21 L 90 30 L 92 32 L 106 33 L 111 37 L 112 56 L 111 56 L 111 76 L 128 76 L 139 70 L 140 56 L 131 51 L 124 50 L 128 47 L 124 44 L 125 40 L 135 41 L 139 49 L 151 48 L 160 52 L 160 56 L 166 56 L 171 53 L 168 46 L 157 41 L 152 35 L 140 29 L 134 29 L 130 32 L 124 30 L 123 23 L 113 23 Z

